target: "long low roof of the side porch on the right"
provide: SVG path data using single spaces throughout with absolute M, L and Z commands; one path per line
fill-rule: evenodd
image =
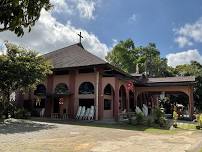
M 195 82 L 195 77 L 183 76 L 183 77 L 149 78 L 147 81 L 147 83 L 178 83 L 178 82 Z

